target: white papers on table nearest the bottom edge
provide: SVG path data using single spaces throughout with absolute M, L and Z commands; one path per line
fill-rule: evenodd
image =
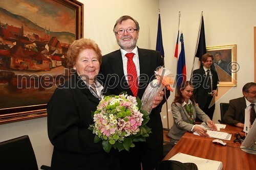
M 169 160 L 176 160 L 182 163 L 195 163 L 198 170 L 219 170 L 222 169 L 223 164 L 221 161 L 204 159 L 196 156 L 191 156 L 183 153 L 178 153 L 174 155 Z

